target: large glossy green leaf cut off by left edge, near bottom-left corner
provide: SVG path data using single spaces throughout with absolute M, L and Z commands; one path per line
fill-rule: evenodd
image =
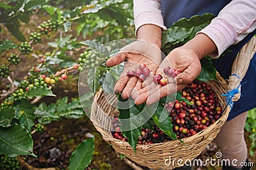
M 28 130 L 22 125 L 0 127 L 0 155 L 8 157 L 17 155 L 36 155 L 33 153 L 33 140 Z

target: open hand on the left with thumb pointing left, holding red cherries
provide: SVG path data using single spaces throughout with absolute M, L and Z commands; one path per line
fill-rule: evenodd
M 138 40 L 123 47 L 118 54 L 108 59 L 106 66 L 115 66 L 124 61 L 124 70 L 115 84 L 114 92 L 116 94 L 122 92 L 122 98 L 125 99 L 129 98 L 131 93 L 139 91 L 142 84 L 138 77 L 127 76 L 127 72 L 129 70 L 135 72 L 140 64 L 144 63 L 150 72 L 155 73 L 161 63 L 161 50 L 148 42 Z M 145 84 L 152 82 L 152 79 L 153 76 L 147 77 Z

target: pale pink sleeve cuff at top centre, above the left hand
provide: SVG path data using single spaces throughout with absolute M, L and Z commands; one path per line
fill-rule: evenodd
M 157 0 L 133 0 L 135 33 L 145 24 L 154 24 L 166 29 L 161 12 L 161 3 Z

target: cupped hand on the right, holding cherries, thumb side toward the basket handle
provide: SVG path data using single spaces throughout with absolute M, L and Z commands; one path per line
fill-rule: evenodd
M 149 86 L 140 89 L 136 97 L 136 104 L 147 102 L 150 105 L 157 102 L 160 98 L 185 88 L 187 84 L 196 79 L 201 71 L 199 58 L 200 56 L 198 56 L 196 51 L 188 47 L 182 46 L 172 50 L 156 70 L 156 74 L 161 74 L 163 77 L 168 78 L 168 84 L 162 86 L 152 82 Z M 173 79 L 172 76 L 163 73 L 166 66 L 175 68 L 180 73 Z

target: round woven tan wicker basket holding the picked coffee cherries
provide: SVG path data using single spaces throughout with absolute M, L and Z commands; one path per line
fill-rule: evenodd
M 255 41 L 253 41 L 253 49 L 255 50 Z M 250 50 L 252 51 L 252 49 Z M 249 50 L 247 50 L 247 52 L 248 51 Z M 243 56 L 244 55 L 245 54 L 243 54 Z M 237 56 L 239 57 L 239 55 Z M 251 58 L 252 56 L 253 55 L 251 54 Z M 249 57 L 246 62 L 248 68 L 248 63 L 250 63 Z M 238 66 L 236 67 L 239 68 Z M 239 70 L 234 70 L 234 72 L 239 73 Z M 243 77 L 244 75 L 241 75 L 239 73 L 239 76 Z M 165 143 L 137 144 L 136 153 L 134 153 L 134 150 L 127 142 L 115 139 L 112 136 L 110 130 L 105 130 L 101 128 L 109 127 L 109 129 L 112 129 L 112 123 L 109 116 L 113 117 L 118 112 L 115 107 L 112 107 L 109 104 L 109 101 L 115 100 L 115 96 L 104 94 L 102 89 L 100 89 L 95 95 L 92 104 L 90 119 L 95 128 L 100 132 L 100 134 L 102 134 L 103 139 L 111 144 L 113 148 L 118 151 L 118 153 L 122 153 L 123 155 L 125 155 L 125 157 L 130 158 L 132 161 L 140 164 L 141 166 L 149 167 L 152 169 L 173 169 L 174 167 L 179 167 L 179 165 L 177 164 L 177 160 L 193 160 L 198 155 L 200 155 L 200 153 L 202 152 L 202 150 L 204 150 L 207 144 L 211 143 L 218 134 L 218 132 L 220 132 L 220 128 L 228 118 L 228 113 L 230 112 L 231 107 L 230 105 L 226 104 L 225 97 L 222 97 L 221 95 L 226 94 L 227 91 L 229 91 L 230 89 L 237 88 L 237 85 L 233 83 L 233 87 L 230 87 L 228 86 L 227 81 L 221 78 L 219 74 L 217 75 L 217 77 L 217 80 L 209 81 L 207 83 L 209 84 L 209 86 L 211 86 L 216 95 L 218 95 L 221 107 L 225 108 L 225 110 L 223 111 L 221 118 L 214 124 L 191 137 L 182 139 L 182 141 L 184 141 L 186 145 L 180 143 L 180 141 L 177 140 L 168 141 Z M 228 83 L 231 84 L 231 82 Z M 108 101 L 106 100 L 106 98 L 108 98 Z M 175 164 L 171 164 L 170 166 L 166 164 L 166 160 L 169 160 L 169 158 L 172 158 L 172 160 L 176 160 Z M 184 164 L 184 162 L 182 163 Z

